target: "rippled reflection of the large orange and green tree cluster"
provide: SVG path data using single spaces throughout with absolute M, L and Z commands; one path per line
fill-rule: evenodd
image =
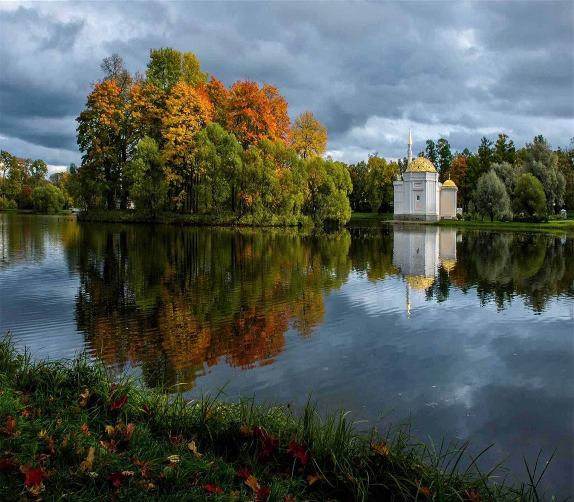
M 85 225 L 71 251 L 77 326 L 108 364 L 143 362 L 152 385 L 192 385 L 222 356 L 270 364 L 290 326 L 307 337 L 323 321 L 323 294 L 350 271 L 350 241 L 347 231 Z

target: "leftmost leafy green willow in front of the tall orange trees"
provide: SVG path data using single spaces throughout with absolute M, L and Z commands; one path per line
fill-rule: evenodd
M 160 151 L 152 138 L 146 136 L 138 142 L 129 170 L 133 180 L 131 196 L 135 207 L 154 218 L 164 207 L 168 185 Z

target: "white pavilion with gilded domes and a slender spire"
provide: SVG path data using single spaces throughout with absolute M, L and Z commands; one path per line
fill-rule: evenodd
M 437 221 L 456 219 L 456 188 L 449 178 L 439 182 L 439 173 L 428 158 L 413 160 L 413 146 L 407 142 L 407 167 L 402 180 L 393 181 L 394 219 Z

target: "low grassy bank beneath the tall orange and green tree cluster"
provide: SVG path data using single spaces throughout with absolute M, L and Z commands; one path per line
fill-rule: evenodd
M 154 223 L 171 225 L 205 225 L 205 226 L 245 226 L 245 227 L 297 227 L 313 226 L 308 216 L 284 215 L 250 215 L 237 219 L 234 213 L 218 215 L 182 215 L 180 213 L 158 213 L 154 218 L 145 213 L 130 209 L 124 211 L 87 211 L 77 213 L 78 221 L 99 221 L 105 223 Z

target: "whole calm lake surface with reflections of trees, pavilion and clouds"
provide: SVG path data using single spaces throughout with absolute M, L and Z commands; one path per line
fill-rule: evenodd
M 0 329 L 37 356 L 496 445 L 574 492 L 574 242 L 437 227 L 230 230 L 2 213 Z

